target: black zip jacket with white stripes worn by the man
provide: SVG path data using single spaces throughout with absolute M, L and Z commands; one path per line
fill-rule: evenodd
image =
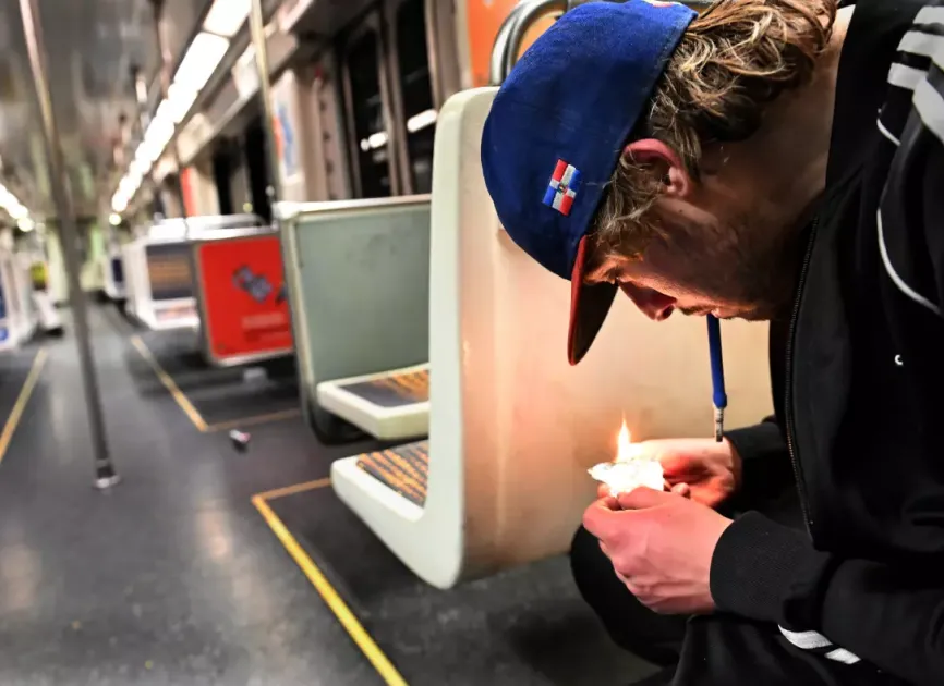
M 944 0 L 857 3 L 826 191 L 772 327 L 777 421 L 731 433 L 746 488 L 792 476 L 806 532 L 749 512 L 711 578 L 722 611 L 928 685 L 944 684 L 942 70 Z

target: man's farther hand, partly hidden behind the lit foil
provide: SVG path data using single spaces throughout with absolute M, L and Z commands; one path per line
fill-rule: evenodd
M 643 441 L 632 445 L 632 455 L 657 460 L 673 492 L 709 507 L 717 507 L 740 488 L 741 458 L 727 439 L 721 443 L 713 439 Z

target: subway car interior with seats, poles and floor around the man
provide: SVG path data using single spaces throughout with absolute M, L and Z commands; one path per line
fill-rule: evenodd
M 571 367 L 482 176 L 573 4 L 0 5 L 0 683 L 658 669 L 568 551 L 621 426 L 711 433 L 703 321 L 622 298 Z M 723 328 L 753 424 L 766 327 Z

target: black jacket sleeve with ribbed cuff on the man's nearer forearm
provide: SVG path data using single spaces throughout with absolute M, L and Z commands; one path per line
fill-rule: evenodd
M 915 565 L 842 559 L 755 512 L 712 559 L 718 610 L 818 632 L 856 659 L 921 686 L 944 681 L 944 581 Z

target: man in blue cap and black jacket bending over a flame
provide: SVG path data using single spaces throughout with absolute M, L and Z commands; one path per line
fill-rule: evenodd
M 629 593 L 690 617 L 674 684 L 944 684 L 942 68 L 940 2 L 594 2 L 495 99 L 485 181 L 572 282 L 572 364 L 620 290 L 772 321 L 776 421 L 648 443 L 673 488 L 584 516 L 615 635 L 678 629 Z M 718 512 L 786 480 L 798 528 Z

